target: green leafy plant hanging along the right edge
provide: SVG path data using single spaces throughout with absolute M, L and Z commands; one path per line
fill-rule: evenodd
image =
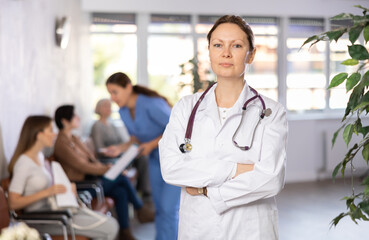
M 369 9 L 360 5 L 356 5 L 355 7 L 363 10 L 363 14 L 341 13 L 331 18 L 331 20 L 336 21 L 349 20 L 352 22 L 352 26 L 341 27 L 333 31 L 311 36 L 301 46 L 310 44 L 311 47 L 319 41 L 339 41 L 347 33 L 351 42 L 351 45 L 347 46 L 347 52 L 351 59 L 347 59 L 341 64 L 357 67 L 352 73 L 341 72 L 334 76 L 328 87 L 328 89 L 334 88 L 346 81 L 346 91 L 351 91 L 342 118 L 342 126 L 333 134 L 332 138 L 333 147 L 340 131 L 343 129 L 342 137 L 349 149 L 343 160 L 333 170 L 333 180 L 337 177 L 338 173 L 341 173 L 341 176 L 344 177 L 345 170 L 348 166 L 351 168 L 351 172 L 354 170 L 353 160 L 358 152 L 361 151 L 363 161 L 367 164 L 369 162 L 369 126 L 363 126 L 361 122 L 361 116 L 369 113 L 369 52 L 365 46 L 369 41 L 369 15 L 367 14 Z M 364 44 L 358 41 L 361 34 L 365 40 Z M 359 140 L 356 140 L 356 142 L 351 142 L 353 134 L 359 136 Z M 353 186 L 352 176 L 351 181 Z M 349 216 L 355 223 L 359 220 L 369 221 L 369 177 L 366 177 L 362 181 L 362 185 L 364 186 L 362 192 L 355 194 L 354 188 L 352 187 L 352 195 L 343 198 L 343 200 L 346 200 L 347 210 L 335 217 L 331 222 L 331 226 L 336 226 L 346 216 Z

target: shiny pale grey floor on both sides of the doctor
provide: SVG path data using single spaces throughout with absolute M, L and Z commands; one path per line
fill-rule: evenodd
M 369 222 L 356 225 L 345 218 L 330 228 L 330 221 L 345 210 L 340 199 L 350 195 L 350 189 L 348 180 L 287 184 L 277 198 L 280 240 L 369 239 Z M 132 227 L 138 240 L 155 239 L 154 224 L 133 221 Z

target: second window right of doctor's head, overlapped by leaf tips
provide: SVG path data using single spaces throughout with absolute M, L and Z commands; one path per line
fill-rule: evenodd
M 291 18 L 287 39 L 287 108 L 294 111 L 326 107 L 326 43 L 300 49 L 306 38 L 324 31 L 323 19 Z

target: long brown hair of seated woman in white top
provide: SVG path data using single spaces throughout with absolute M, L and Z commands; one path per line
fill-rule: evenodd
M 24 121 L 17 147 L 15 148 L 13 157 L 8 166 L 10 176 L 13 173 L 14 165 L 20 155 L 25 153 L 36 143 L 37 134 L 48 127 L 51 122 L 52 119 L 48 116 L 29 116 L 26 121 Z

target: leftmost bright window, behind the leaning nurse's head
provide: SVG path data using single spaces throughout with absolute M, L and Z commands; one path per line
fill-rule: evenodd
M 94 64 L 94 104 L 109 97 L 105 81 L 115 72 L 124 72 L 137 82 L 137 26 L 134 14 L 93 13 L 91 32 Z M 113 105 L 113 118 L 117 106 Z

